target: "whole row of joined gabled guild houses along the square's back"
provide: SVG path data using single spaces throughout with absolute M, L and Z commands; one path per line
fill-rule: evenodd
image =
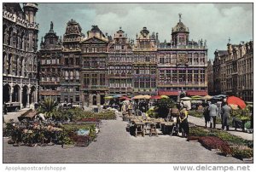
M 189 28 L 181 15 L 170 43 L 160 43 L 158 33 L 149 34 L 147 27 L 135 41 L 121 27 L 113 37 L 98 26 L 92 26 L 86 36 L 81 31 L 79 23 L 70 20 L 59 40 L 51 24 L 41 43 L 44 71 L 40 75 L 60 78 L 41 78 L 42 98 L 51 95 L 60 102 L 101 106 L 107 95 L 207 95 L 207 44 L 189 40 Z M 51 39 L 55 40 L 52 45 Z M 52 57 L 61 58 L 61 67 L 52 67 L 61 72 L 54 73 L 42 64 Z

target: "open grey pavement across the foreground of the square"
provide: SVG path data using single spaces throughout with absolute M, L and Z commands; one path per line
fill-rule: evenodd
M 15 147 L 4 139 L 3 163 L 242 163 L 177 136 L 136 138 L 125 131 L 126 124 L 121 118 L 103 121 L 96 142 L 88 147 Z

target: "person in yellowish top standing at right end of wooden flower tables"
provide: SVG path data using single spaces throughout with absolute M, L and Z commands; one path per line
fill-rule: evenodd
M 187 106 L 182 104 L 181 110 L 179 112 L 179 123 L 180 129 L 182 130 L 182 136 L 187 137 L 189 136 L 189 122 L 188 122 L 188 114 Z

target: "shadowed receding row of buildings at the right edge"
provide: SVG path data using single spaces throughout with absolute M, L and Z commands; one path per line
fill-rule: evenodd
M 213 69 L 215 95 L 253 101 L 253 41 L 228 43 L 227 50 L 216 50 Z

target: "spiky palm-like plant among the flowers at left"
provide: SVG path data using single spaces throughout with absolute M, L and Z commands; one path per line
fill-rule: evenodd
M 44 113 L 45 118 L 52 118 L 57 106 L 58 103 L 55 100 L 48 98 L 40 103 L 38 111 Z

